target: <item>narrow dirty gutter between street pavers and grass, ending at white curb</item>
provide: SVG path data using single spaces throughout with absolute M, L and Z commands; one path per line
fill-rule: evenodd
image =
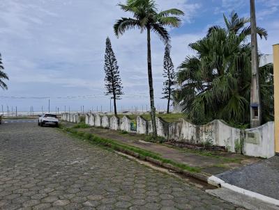
M 135 158 L 134 156 L 130 156 L 130 155 L 124 154 L 122 152 L 116 152 L 116 154 L 124 156 L 124 157 L 126 157 L 130 160 L 136 161 L 137 163 L 140 163 L 141 165 L 145 165 L 149 168 L 152 168 L 153 170 L 157 170 L 159 172 L 163 172 L 163 173 L 165 173 L 167 175 L 170 175 L 172 177 L 176 177 L 178 179 L 181 179 L 182 181 L 187 182 L 187 184 L 189 184 L 190 186 L 195 186 L 196 188 L 199 188 L 202 191 L 213 190 L 213 189 L 217 188 L 215 186 L 212 186 L 211 184 L 206 183 L 205 181 L 201 181 L 201 180 L 195 179 L 193 177 L 188 177 L 186 175 L 182 175 L 179 172 L 176 172 L 174 170 L 169 170 L 167 168 L 164 168 L 163 166 L 158 166 L 154 163 L 150 163 L 149 161 L 142 161 L 140 159 Z

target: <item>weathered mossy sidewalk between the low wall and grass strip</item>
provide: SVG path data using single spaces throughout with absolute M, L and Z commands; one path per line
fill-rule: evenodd
M 180 149 L 160 143 L 149 143 L 144 141 L 146 136 L 139 134 L 121 134 L 121 131 L 91 127 L 88 129 L 77 129 L 86 133 L 95 134 L 103 138 L 116 140 L 133 147 L 148 150 L 159 154 L 164 159 L 177 163 L 183 163 L 197 168 L 204 179 L 211 175 L 218 175 L 227 170 L 240 168 L 251 163 L 257 163 L 260 159 L 232 154 L 228 152 L 197 152 L 196 150 Z

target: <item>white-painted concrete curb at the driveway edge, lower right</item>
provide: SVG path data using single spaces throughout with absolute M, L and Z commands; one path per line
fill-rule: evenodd
M 252 191 L 248 191 L 246 189 L 240 188 L 238 186 L 234 186 L 232 184 L 228 184 L 227 182 L 223 181 L 222 179 L 219 179 L 218 177 L 215 176 L 211 176 L 209 177 L 209 179 L 207 180 L 207 182 L 213 186 L 218 186 L 218 187 L 222 187 L 222 188 L 227 188 L 231 191 L 234 191 L 236 193 L 240 193 L 243 195 L 247 195 L 249 197 L 255 198 L 257 200 L 261 200 L 263 202 L 269 203 L 269 204 L 273 204 L 276 206 L 279 206 L 279 200 L 276 200 L 272 197 L 268 197 L 266 195 L 262 195 L 259 193 L 255 193 Z

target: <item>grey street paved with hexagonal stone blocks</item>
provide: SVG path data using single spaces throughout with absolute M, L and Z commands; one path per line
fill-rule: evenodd
M 0 209 L 238 209 L 35 123 L 0 126 Z

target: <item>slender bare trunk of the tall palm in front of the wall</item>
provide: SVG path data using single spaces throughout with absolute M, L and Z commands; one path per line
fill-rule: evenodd
M 149 95 L 150 95 L 150 106 L 151 106 L 151 121 L 153 138 L 157 137 L 156 128 L 156 108 L 154 106 L 154 91 L 153 91 L 153 78 L 152 78 L 152 65 L 151 65 L 151 38 L 150 38 L 150 26 L 147 26 L 147 68 L 149 76 Z

